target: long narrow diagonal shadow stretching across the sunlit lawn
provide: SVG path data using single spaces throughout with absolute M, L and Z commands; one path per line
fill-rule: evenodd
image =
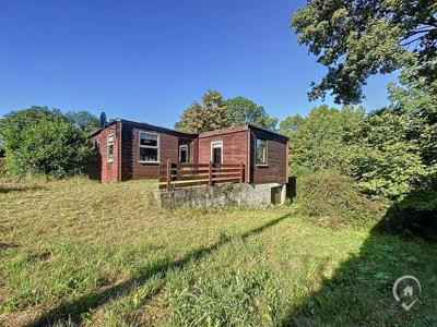
M 280 218 L 273 219 L 268 223 L 249 230 L 243 234 L 229 238 L 226 235 L 221 237 L 220 241 L 215 244 L 208 247 L 200 247 L 190 253 L 188 253 L 184 258 L 169 262 L 166 259 L 160 261 L 157 263 L 153 263 L 150 266 L 143 268 L 138 277 L 128 279 L 126 281 L 120 281 L 115 284 L 101 288 L 99 290 L 85 294 L 79 299 L 73 301 L 61 303 L 59 306 L 45 312 L 40 317 L 36 320 L 28 324 L 28 326 L 46 326 L 46 325 L 55 325 L 59 320 L 68 320 L 72 324 L 81 324 L 82 323 L 82 314 L 87 313 L 90 310 L 96 308 L 111 300 L 121 298 L 131 292 L 135 287 L 141 286 L 146 282 L 152 277 L 161 277 L 164 278 L 168 272 L 177 269 L 181 269 L 189 263 L 196 263 L 203 257 L 213 254 L 221 246 L 234 241 L 234 240 L 245 240 L 251 235 L 256 235 L 261 233 L 268 228 L 273 227 L 274 225 L 281 222 L 282 220 L 290 217 L 290 214 L 284 215 Z M 161 289 L 161 288 L 160 288 Z M 147 299 L 153 298 L 156 293 L 160 292 L 160 289 L 155 290 L 152 294 L 147 296 Z

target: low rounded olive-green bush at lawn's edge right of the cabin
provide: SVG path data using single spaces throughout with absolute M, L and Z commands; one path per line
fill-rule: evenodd
M 367 198 L 353 179 L 332 170 L 300 178 L 297 201 L 304 215 L 332 228 L 368 226 L 382 215 L 381 203 Z

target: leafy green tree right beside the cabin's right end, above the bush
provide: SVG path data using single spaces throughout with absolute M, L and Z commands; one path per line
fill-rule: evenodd
M 282 122 L 290 123 L 291 173 L 304 175 L 323 169 L 334 169 L 342 173 L 351 169 L 349 157 L 352 145 L 349 144 L 364 119 L 364 109 L 344 106 L 341 110 L 327 105 L 311 109 L 304 120 L 291 117 Z M 355 146 L 355 145 L 354 145 Z

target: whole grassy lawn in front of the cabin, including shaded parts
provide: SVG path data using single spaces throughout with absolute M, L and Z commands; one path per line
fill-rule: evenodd
M 0 183 L 0 325 L 436 325 L 437 247 L 298 210 L 165 210 L 151 181 Z M 422 283 L 409 311 L 391 287 Z

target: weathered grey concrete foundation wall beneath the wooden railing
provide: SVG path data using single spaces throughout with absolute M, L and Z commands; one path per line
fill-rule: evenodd
M 248 207 L 264 208 L 272 205 L 272 189 L 281 189 L 281 203 L 285 202 L 285 184 L 221 184 L 155 191 L 155 198 L 166 208 L 179 207 Z

